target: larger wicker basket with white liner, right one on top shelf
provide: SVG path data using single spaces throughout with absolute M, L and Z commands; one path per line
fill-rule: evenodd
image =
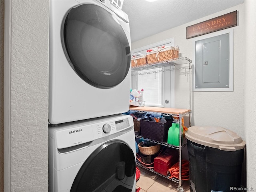
M 166 61 L 166 60 L 178 58 L 179 53 L 180 53 L 180 50 L 178 46 L 176 46 L 175 48 L 174 47 L 162 48 L 157 51 L 147 53 L 147 61 L 148 61 L 148 64 Z

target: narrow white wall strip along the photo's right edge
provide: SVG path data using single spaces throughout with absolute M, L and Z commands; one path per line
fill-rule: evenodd
M 256 190 L 256 1 L 245 1 L 245 47 L 244 68 L 245 68 L 245 84 L 244 84 L 244 128 L 246 138 L 247 152 L 247 186 L 254 187 Z M 249 191 L 249 190 L 248 190 Z

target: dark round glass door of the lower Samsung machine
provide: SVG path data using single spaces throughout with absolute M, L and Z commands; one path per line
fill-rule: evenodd
M 70 192 L 131 192 L 136 163 L 132 149 L 121 141 L 97 148 L 80 168 Z

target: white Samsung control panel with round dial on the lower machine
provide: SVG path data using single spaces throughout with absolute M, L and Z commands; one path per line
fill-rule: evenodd
M 132 116 L 86 120 L 78 124 L 49 128 L 49 137 L 54 138 L 58 149 L 90 142 L 109 136 L 133 126 Z

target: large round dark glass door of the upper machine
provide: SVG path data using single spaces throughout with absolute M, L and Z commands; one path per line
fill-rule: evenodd
M 130 68 L 130 46 L 115 15 L 82 4 L 68 12 L 63 32 L 64 52 L 80 78 L 98 88 L 111 88 L 124 80 Z

